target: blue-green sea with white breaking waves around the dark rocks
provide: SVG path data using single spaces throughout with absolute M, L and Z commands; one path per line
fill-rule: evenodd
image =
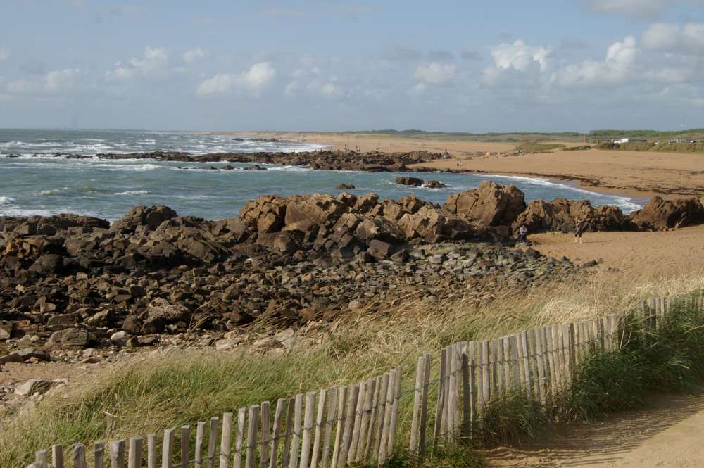
M 396 177 L 408 173 L 340 172 L 281 165 L 262 165 L 268 170 L 214 171 L 194 167 L 226 163 L 106 160 L 96 156 L 147 151 L 203 154 L 318 148 L 322 146 L 187 132 L 0 129 L 0 216 L 76 213 L 116 220 L 136 205 L 168 205 L 180 215 L 219 220 L 237 217 L 242 205 L 258 196 L 339 194 L 338 184 L 356 186 L 348 190 L 354 194 L 373 191 L 382 198 L 415 194 L 427 201 L 444 203 L 450 194 L 472 189 L 483 179 L 513 183 L 524 191 L 527 201 L 562 197 L 588 199 L 593 205 L 618 205 L 626 213 L 641 208 L 626 197 L 530 177 L 440 172 L 417 175 L 448 185 L 445 189 L 425 189 L 394 184 Z M 92 158 L 52 156 L 56 153 Z

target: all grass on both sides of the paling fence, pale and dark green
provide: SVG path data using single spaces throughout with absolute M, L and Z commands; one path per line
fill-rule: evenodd
M 35 450 L 55 443 L 68 446 L 159 432 L 263 400 L 274 402 L 295 393 L 360 381 L 397 365 L 403 365 L 403 386 L 410 388 L 417 357 L 450 343 L 599 317 L 612 310 L 627 310 L 636 298 L 681 294 L 703 286 L 704 275 L 694 272 L 657 281 L 643 277 L 613 282 L 600 277 L 577 289 L 567 282 L 522 295 L 494 290 L 486 298 L 456 299 L 441 305 L 400 298 L 384 314 L 360 311 L 346 316 L 333 329 L 318 331 L 311 341 L 282 355 L 260 355 L 253 348 L 249 353 L 169 350 L 138 354 L 80 382 L 65 396 L 47 396 L 22 415 L 4 415 L 0 419 L 0 466 L 24 468 Z M 678 314 L 657 335 L 643 339 L 632 335 L 623 358 L 593 355 L 579 375 L 579 385 L 564 397 L 560 414 L 588 419 L 638 403 L 637 398 L 624 396 L 642 396 L 653 388 L 686 389 L 702 377 L 704 322 L 686 311 Z M 617 405 L 611 397 L 624 398 L 626 405 Z M 432 395 L 430 401 L 435 401 Z M 408 434 L 412 402 L 413 394 L 404 393 L 398 434 Z M 554 416 L 543 415 L 536 403 L 523 396 L 504 396 L 482 415 L 480 439 L 495 443 L 532 436 Z M 403 438 L 397 443 L 407 445 Z M 427 467 L 481 463 L 472 448 L 444 450 L 430 454 Z M 388 466 L 404 467 L 412 462 L 400 457 Z

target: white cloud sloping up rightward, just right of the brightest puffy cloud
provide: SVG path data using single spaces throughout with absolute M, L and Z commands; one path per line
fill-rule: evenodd
M 564 86 L 591 86 L 617 84 L 631 77 L 638 49 L 636 39 L 626 37 L 611 44 L 603 61 L 585 60 L 577 65 L 567 65 L 553 75 Z

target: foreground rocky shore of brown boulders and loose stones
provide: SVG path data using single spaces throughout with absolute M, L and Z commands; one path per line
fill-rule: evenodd
M 398 301 L 520 291 L 596 266 L 515 247 L 521 224 L 570 230 L 575 217 L 591 230 L 667 229 L 702 222 L 704 208 L 656 198 L 629 217 L 588 201 L 526 204 L 515 186 L 485 181 L 444 205 L 343 193 L 266 196 L 220 221 L 165 206 L 134 208 L 112 224 L 0 217 L 0 342 L 41 359 L 232 334 L 256 320 L 301 327 Z

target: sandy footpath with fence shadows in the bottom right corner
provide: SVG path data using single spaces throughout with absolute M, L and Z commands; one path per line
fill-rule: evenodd
M 487 453 L 489 467 L 689 468 L 704 466 L 704 388 L 665 395 L 648 409 L 548 431 Z

